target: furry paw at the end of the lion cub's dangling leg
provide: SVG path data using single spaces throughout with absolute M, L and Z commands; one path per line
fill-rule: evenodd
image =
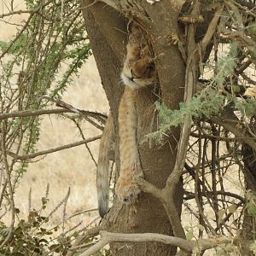
M 137 168 L 130 172 L 127 170 L 121 170 L 120 172 L 116 185 L 116 193 L 119 201 L 122 201 L 125 204 L 133 203 L 137 198 L 137 195 L 141 192 L 137 184 L 133 182 L 134 177 L 143 177 L 143 171 L 141 168 Z

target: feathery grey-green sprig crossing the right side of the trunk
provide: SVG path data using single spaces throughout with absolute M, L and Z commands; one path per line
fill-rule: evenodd
M 185 116 L 194 121 L 210 119 L 212 115 L 216 115 L 224 108 L 227 103 L 233 103 L 236 109 L 242 115 L 247 117 L 253 116 L 256 113 L 256 100 L 237 99 L 234 93 L 237 90 L 236 85 L 229 85 L 231 92 L 224 89 L 227 81 L 234 74 L 234 69 L 237 66 L 237 44 L 231 43 L 230 49 L 218 59 L 218 72 L 212 78 L 205 89 L 201 90 L 192 97 L 191 102 L 180 102 L 179 109 L 169 109 L 164 102 L 156 102 L 156 109 L 159 111 L 160 125 L 158 131 L 151 133 L 148 137 L 153 137 L 156 143 L 161 143 L 163 137 L 171 127 L 177 127 L 183 124 Z

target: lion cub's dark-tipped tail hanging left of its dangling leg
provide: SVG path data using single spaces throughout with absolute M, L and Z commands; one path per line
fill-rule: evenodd
M 113 137 L 113 117 L 111 113 L 108 116 L 99 148 L 98 166 L 96 175 L 96 186 L 98 194 L 98 208 L 101 217 L 108 212 L 109 201 L 109 149 Z

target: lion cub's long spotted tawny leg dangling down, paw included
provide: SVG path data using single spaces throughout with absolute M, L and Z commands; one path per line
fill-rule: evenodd
M 143 177 L 137 148 L 137 90 L 125 88 L 119 105 L 120 173 L 116 186 L 120 201 L 131 203 L 141 192 L 134 177 Z

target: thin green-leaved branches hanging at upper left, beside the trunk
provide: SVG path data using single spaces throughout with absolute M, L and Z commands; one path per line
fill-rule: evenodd
M 4 99 L 0 107 L 4 113 L 48 108 L 52 104 L 49 97 L 61 98 L 73 75 L 78 75 L 91 55 L 79 7 L 79 0 L 26 1 L 31 12 L 28 20 L 9 41 L 0 41 L 0 100 Z M 0 121 L 0 130 L 2 125 Z M 9 119 L 7 130 L 12 134 L 7 150 L 16 154 L 37 150 L 38 117 Z M 28 163 L 22 160 L 15 166 L 16 180 Z

